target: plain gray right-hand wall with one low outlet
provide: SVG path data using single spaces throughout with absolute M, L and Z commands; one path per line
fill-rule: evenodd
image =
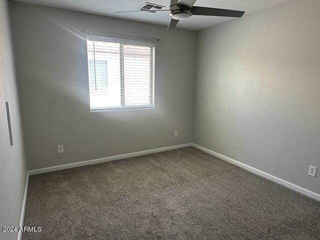
M 196 144 L 317 193 L 319 11 L 289 1 L 199 31 L 194 108 Z

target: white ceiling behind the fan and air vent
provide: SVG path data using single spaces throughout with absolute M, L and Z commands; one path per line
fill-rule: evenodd
M 114 13 L 115 11 L 136 10 L 145 1 L 156 3 L 169 8 L 169 0 L 19 0 L 39 5 L 58 7 L 76 11 L 95 13 L 100 15 L 113 16 L 118 18 L 137 20 L 161 25 L 168 25 L 170 21 L 168 11 L 150 12 L 126 12 Z M 243 10 L 245 14 L 268 8 L 288 0 L 197 0 L 194 5 Z M 164 9 L 164 8 L 163 8 Z M 179 28 L 199 30 L 212 26 L 233 17 L 221 16 L 191 16 L 188 19 L 180 20 Z

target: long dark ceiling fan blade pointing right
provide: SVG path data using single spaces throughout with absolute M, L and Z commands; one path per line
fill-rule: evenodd
M 244 11 L 203 7 L 203 6 L 192 6 L 191 11 L 192 11 L 192 15 L 204 15 L 204 16 L 241 17 L 244 14 Z

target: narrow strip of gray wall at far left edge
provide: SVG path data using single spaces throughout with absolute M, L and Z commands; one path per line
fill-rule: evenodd
M 5 101 L 9 102 L 13 146 L 10 146 Z M 24 194 L 26 163 L 11 49 L 6 0 L 0 0 L 0 226 L 18 226 Z M 0 239 L 17 232 L 0 231 Z

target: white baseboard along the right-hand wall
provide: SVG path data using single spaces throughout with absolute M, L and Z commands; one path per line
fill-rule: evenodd
M 269 179 L 271 181 L 274 181 L 276 183 L 284 185 L 284 186 L 286 186 L 286 187 L 288 187 L 288 188 L 290 188 L 292 190 L 295 190 L 297 192 L 300 192 L 300 193 L 302 193 L 304 195 L 307 195 L 309 197 L 312 197 L 313 199 L 316 199 L 316 200 L 320 201 L 320 194 L 318 194 L 316 192 L 313 192 L 313 191 L 310 191 L 308 189 L 305 189 L 305 188 L 303 188 L 301 186 L 298 186 L 298 185 L 293 184 L 293 183 L 291 183 L 289 181 L 283 180 L 283 179 L 281 179 L 281 178 L 279 178 L 277 176 L 273 176 L 273 175 L 271 175 L 269 173 L 266 173 L 264 171 L 256 169 L 256 168 L 254 168 L 252 166 L 246 165 L 246 164 L 244 164 L 242 162 L 236 161 L 236 160 L 234 160 L 234 159 L 232 159 L 230 157 L 224 156 L 224 155 L 222 155 L 220 153 L 217 153 L 215 151 L 209 150 L 209 149 L 207 149 L 207 148 L 205 148 L 203 146 L 199 146 L 199 145 L 197 145 L 195 143 L 191 143 L 191 146 L 193 146 L 193 147 L 195 147 L 195 148 L 197 148 L 197 149 L 199 149 L 201 151 L 204 151 L 206 153 L 209 153 L 210 155 L 216 156 L 216 157 L 218 157 L 218 158 L 220 158 L 222 160 L 230 162 L 230 163 L 232 163 L 234 165 L 237 165 L 237 166 L 239 166 L 241 168 L 244 168 L 244 169 L 246 169 L 246 170 L 248 170 L 250 172 L 253 172 L 253 173 L 255 173 L 255 174 L 259 175 L 259 176 L 267 178 L 267 179 Z

